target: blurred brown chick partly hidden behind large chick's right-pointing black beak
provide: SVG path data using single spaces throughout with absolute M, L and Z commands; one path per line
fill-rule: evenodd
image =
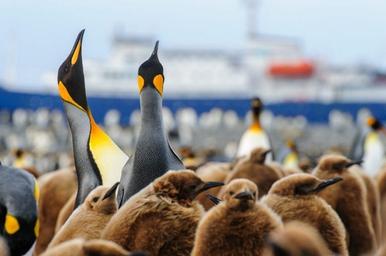
M 230 163 L 215 163 L 209 162 L 196 170 L 197 176 L 203 181 L 221 181 L 224 182 L 225 178 L 231 171 Z M 198 200 L 206 211 L 208 211 L 214 204 L 205 196 L 205 194 L 217 195 L 221 187 L 215 187 L 209 189 L 206 193 L 201 193 L 197 196 Z

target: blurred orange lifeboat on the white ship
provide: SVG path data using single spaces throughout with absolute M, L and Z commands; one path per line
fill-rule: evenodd
M 268 72 L 273 77 L 302 78 L 311 76 L 314 73 L 314 66 L 307 61 L 272 63 Z

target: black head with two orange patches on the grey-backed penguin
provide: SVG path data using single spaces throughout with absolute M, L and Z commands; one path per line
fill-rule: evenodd
M 155 43 L 153 53 L 150 58 L 139 66 L 138 69 L 138 90 L 141 93 L 146 86 L 157 89 L 162 96 L 163 82 L 163 67 L 158 60 L 158 42 Z

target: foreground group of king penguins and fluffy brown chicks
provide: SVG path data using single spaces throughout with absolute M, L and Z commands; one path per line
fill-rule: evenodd
M 353 149 L 359 157 L 325 155 L 313 169 L 293 141 L 274 162 L 254 98 L 234 162 L 185 170 L 162 120 L 157 41 L 138 70 L 141 126 L 128 157 L 92 117 L 83 34 L 58 70 L 75 166 L 36 180 L 0 164 L 0 255 L 384 255 L 384 130 L 375 117 Z

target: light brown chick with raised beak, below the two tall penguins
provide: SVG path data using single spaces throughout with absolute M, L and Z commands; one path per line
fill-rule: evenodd
M 86 240 L 100 238 L 106 224 L 117 212 L 115 191 L 118 184 L 119 182 L 111 188 L 98 186 L 91 190 L 84 203 L 74 210 L 66 223 L 52 238 L 48 247 L 53 247 L 75 237 L 82 237 Z

